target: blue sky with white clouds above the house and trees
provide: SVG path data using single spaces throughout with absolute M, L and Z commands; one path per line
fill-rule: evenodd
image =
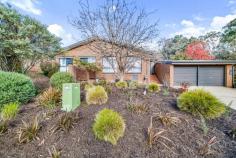
M 90 0 L 93 5 L 103 0 Z M 219 31 L 236 18 L 236 0 L 136 0 L 146 10 L 157 10 L 153 20 L 159 19 L 160 38 L 183 34 L 199 36 Z M 23 14 L 30 15 L 48 26 L 48 30 L 62 38 L 63 46 L 80 40 L 80 35 L 68 23 L 68 16 L 76 15 L 78 0 L 0 0 L 9 3 Z

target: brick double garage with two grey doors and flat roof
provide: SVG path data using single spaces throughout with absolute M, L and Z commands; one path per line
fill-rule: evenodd
M 160 82 L 170 86 L 188 83 L 191 86 L 233 86 L 233 67 L 236 61 L 175 60 L 155 65 Z

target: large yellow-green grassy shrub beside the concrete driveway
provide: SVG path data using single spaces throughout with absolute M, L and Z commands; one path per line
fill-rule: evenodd
M 177 104 L 180 110 L 195 116 L 202 115 L 206 119 L 220 117 L 225 112 L 225 105 L 210 92 L 202 89 L 182 93 Z

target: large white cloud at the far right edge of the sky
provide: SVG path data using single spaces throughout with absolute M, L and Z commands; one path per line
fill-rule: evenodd
M 211 27 L 213 30 L 220 31 L 227 23 L 236 18 L 235 14 L 229 14 L 226 16 L 215 16 L 212 19 Z

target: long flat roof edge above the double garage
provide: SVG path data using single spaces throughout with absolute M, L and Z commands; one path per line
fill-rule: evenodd
M 236 60 L 163 60 L 157 63 L 172 65 L 234 65 L 236 64 Z

